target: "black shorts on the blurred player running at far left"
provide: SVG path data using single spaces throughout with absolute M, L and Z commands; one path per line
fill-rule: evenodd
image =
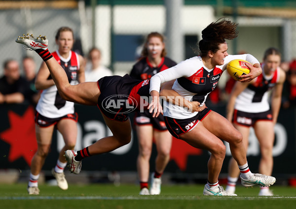
M 56 125 L 60 120 L 62 119 L 73 119 L 75 122 L 78 121 L 78 114 L 67 114 L 65 116 L 59 117 L 59 118 L 47 118 L 45 116 L 40 115 L 37 111 L 35 111 L 35 123 L 39 127 L 48 127 L 51 125 Z

